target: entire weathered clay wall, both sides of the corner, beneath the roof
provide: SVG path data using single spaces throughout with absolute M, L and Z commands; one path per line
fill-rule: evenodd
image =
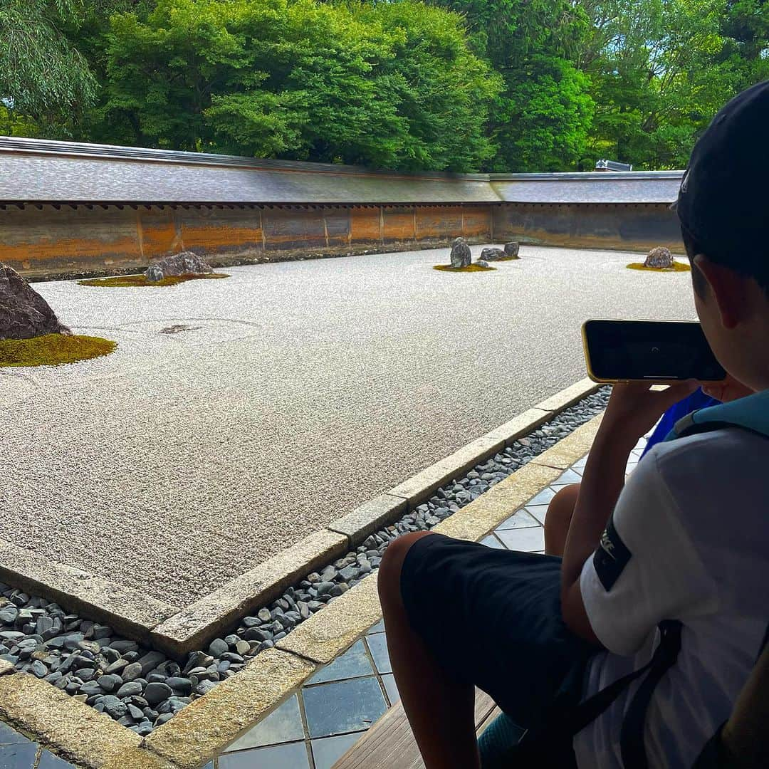
M 520 240 L 681 251 L 665 205 L 35 205 L 0 206 L 0 261 L 25 275 L 145 268 L 188 249 L 215 264 Z

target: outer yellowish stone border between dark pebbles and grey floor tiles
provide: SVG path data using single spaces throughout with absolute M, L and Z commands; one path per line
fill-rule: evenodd
M 565 407 L 564 407 L 565 408 Z M 433 531 L 479 540 L 590 448 L 601 416 L 583 424 Z M 378 573 L 314 614 L 275 649 L 195 700 L 143 741 L 45 681 L 0 663 L 0 717 L 89 769 L 198 769 L 285 702 L 381 618 Z

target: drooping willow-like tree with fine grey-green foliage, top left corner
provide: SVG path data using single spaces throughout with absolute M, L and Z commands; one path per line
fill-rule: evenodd
M 82 10 L 81 0 L 0 3 L 0 98 L 12 130 L 68 135 L 94 101 L 88 62 L 62 31 Z

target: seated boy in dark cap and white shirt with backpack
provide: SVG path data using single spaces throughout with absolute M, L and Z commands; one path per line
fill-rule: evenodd
M 764 82 L 716 115 L 677 201 L 697 315 L 734 383 L 719 395 L 753 392 L 764 421 L 767 131 Z M 638 438 L 696 386 L 614 387 L 562 560 L 440 534 L 390 545 L 388 647 L 428 769 L 481 765 L 474 685 L 528 730 L 511 765 L 691 767 L 727 719 L 767 638 L 769 440 L 728 425 L 677 438 L 624 483 Z

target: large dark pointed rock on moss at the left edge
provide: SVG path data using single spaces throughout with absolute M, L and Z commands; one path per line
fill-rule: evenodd
M 48 302 L 14 268 L 0 263 L 0 339 L 68 333 Z

